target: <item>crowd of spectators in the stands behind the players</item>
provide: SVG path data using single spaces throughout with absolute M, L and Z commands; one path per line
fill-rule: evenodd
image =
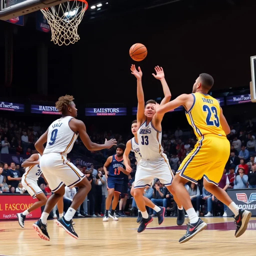
M 255 121 L 255 120 L 254 120 Z M 228 188 L 256 188 L 256 140 L 255 140 L 255 122 L 249 120 L 246 125 L 237 124 L 234 128 L 230 127 L 231 132 L 227 136 L 230 141 L 230 158 L 223 170 L 223 175 L 219 187 L 224 190 Z M 0 118 L 0 137 L 1 137 L 1 154 L 30 154 L 35 153 L 34 144 L 38 137 L 43 133 L 39 123 L 33 126 L 27 126 L 24 122 L 11 121 Z M 98 133 L 88 132 L 93 142 L 103 144 L 105 138 L 115 138 L 118 143 L 126 143 L 132 138 L 131 135 L 124 136 L 114 134 L 112 131 Z M 170 166 L 175 174 L 180 163 L 195 147 L 197 138 L 193 131 L 182 131 L 179 127 L 175 131 L 163 131 L 162 147 L 167 155 Z M 107 197 L 106 178 L 104 175 L 103 164 L 108 156 L 115 154 L 115 148 L 101 151 L 89 151 L 78 138 L 74 144 L 70 156 L 86 156 L 97 166 L 81 166 L 79 160 L 75 165 L 86 175 L 92 185 L 88 196 L 77 209 L 76 216 L 103 216 L 105 211 L 105 198 Z M 132 173 L 129 175 L 129 189 L 131 189 L 136 173 L 136 159 L 134 154 L 130 154 Z M 24 174 L 24 168 L 15 163 L 2 163 L 0 167 L 0 193 L 27 193 L 22 187 L 20 180 Z M 41 177 L 38 184 L 45 193 L 51 193 L 50 188 Z M 203 180 L 198 184 L 187 183 L 186 188 L 190 194 L 191 202 L 200 216 L 227 216 L 227 206 L 223 205 L 213 195 L 203 187 Z M 64 196 L 64 210 L 68 209 L 71 200 L 78 188 L 67 188 Z M 166 215 L 175 216 L 177 206 L 173 196 L 168 192 L 163 184 L 157 179 L 154 180 L 152 187 L 146 187 L 144 195 L 154 202 L 154 204 L 166 207 Z M 56 217 L 56 208 L 53 215 Z M 129 194 L 126 207 L 124 209 L 127 215 L 136 215 L 137 207 L 134 199 Z M 155 212 L 148 209 L 152 216 Z

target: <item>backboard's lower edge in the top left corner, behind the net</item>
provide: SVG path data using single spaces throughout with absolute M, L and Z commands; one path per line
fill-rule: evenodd
M 68 0 L 0 0 L 0 19 L 8 20 Z

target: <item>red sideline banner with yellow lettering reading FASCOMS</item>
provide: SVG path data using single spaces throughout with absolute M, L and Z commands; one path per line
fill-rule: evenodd
M 50 195 L 47 195 L 49 198 Z M 0 194 L 0 220 L 17 219 L 16 213 L 27 210 L 31 205 L 37 202 L 38 199 L 33 199 L 29 194 L 25 195 L 5 195 Z M 41 216 L 41 207 L 30 212 L 26 219 L 38 219 Z

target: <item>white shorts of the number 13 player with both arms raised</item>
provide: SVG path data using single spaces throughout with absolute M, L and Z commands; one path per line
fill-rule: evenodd
M 172 184 L 173 177 L 166 154 L 150 160 L 141 159 L 136 170 L 134 188 L 151 186 L 154 178 L 158 178 L 162 184 L 168 186 Z

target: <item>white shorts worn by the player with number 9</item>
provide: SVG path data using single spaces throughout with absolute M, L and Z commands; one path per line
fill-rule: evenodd
M 74 186 L 86 177 L 76 166 L 60 153 L 44 154 L 40 158 L 40 169 L 47 180 L 52 192 L 57 191 L 63 184 Z

